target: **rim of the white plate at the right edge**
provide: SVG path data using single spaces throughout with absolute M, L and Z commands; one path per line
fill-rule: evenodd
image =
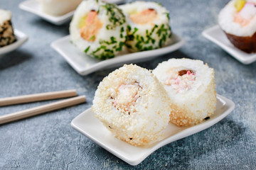
M 225 44 L 224 42 L 219 41 L 217 38 L 215 38 L 214 35 L 211 35 L 210 32 L 213 30 L 221 30 L 220 26 L 215 25 L 212 26 L 210 28 L 207 28 L 206 30 L 203 30 L 202 35 L 210 40 L 211 42 L 214 42 L 216 45 L 218 45 L 220 48 L 222 48 L 223 50 L 225 50 L 225 52 L 228 52 L 228 54 L 230 54 L 232 57 L 234 57 L 236 60 L 238 60 L 239 62 L 242 62 L 242 64 L 251 64 L 252 62 L 256 61 L 256 53 L 254 54 L 247 54 L 246 52 L 243 52 L 242 50 L 239 50 L 238 48 L 234 47 L 231 48 L 229 47 L 227 44 Z M 226 38 L 226 37 L 225 37 Z M 228 38 L 226 38 L 228 41 Z M 230 45 L 232 45 L 230 43 Z M 242 52 L 243 55 L 247 55 L 245 57 L 241 56 L 238 52 Z M 248 58 L 250 57 L 250 58 Z

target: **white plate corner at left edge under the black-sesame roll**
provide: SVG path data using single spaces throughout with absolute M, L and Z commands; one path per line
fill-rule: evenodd
M 10 45 L 6 45 L 4 47 L 0 47 L 0 55 L 4 55 L 7 52 L 16 50 L 18 47 L 23 45 L 26 40 L 28 40 L 28 36 L 19 30 L 14 29 L 14 35 L 16 37 L 16 42 L 13 42 Z

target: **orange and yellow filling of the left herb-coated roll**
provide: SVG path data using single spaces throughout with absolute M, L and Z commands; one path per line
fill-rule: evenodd
M 80 36 L 87 41 L 95 41 L 96 35 L 102 28 L 100 18 L 97 16 L 97 11 L 90 11 L 87 16 L 83 17 L 79 24 Z

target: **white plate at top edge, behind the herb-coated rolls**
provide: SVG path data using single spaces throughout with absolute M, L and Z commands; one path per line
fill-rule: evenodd
M 106 0 L 109 3 L 114 4 L 120 4 L 124 0 Z M 40 9 L 40 3 L 36 0 L 27 0 L 21 2 L 21 4 L 18 5 L 19 8 L 23 9 L 24 11 L 31 12 L 33 14 L 36 14 L 37 16 L 40 16 L 44 20 L 53 23 L 57 26 L 62 25 L 63 23 L 66 23 L 71 20 L 73 14 L 75 11 L 71 11 L 69 13 L 64 14 L 63 16 L 50 16 L 47 13 L 43 13 Z

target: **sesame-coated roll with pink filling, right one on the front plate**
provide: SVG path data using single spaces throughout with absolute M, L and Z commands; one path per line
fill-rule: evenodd
M 164 85 L 176 112 L 171 123 L 195 125 L 213 115 L 216 105 L 214 70 L 200 60 L 170 59 L 162 62 L 153 74 Z

